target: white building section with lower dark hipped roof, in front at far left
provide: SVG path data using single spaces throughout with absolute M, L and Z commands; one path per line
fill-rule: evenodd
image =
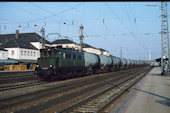
M 11 39 L 0 47 L 8 50 L 8 58 L 35 61 L 40 57 L 39 50 L 27 41 Z

